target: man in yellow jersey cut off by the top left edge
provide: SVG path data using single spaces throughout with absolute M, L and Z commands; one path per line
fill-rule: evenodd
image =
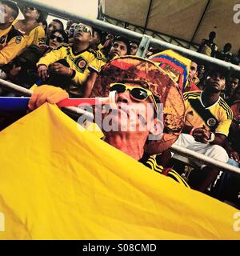
M 0 2 L 0 65 L 9 63 L 26 46 L 22 33 L 12 25 L 18 14 L 14 2 Z

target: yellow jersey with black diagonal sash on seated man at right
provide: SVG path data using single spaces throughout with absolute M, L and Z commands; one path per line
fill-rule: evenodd
M 208 126 L 216 134 L 228 135 L 233 113 L 230 106 L 219 96 L 212 106 L 202 103 L 202 90 L 183 94 L 186 107 L 186 126 Z

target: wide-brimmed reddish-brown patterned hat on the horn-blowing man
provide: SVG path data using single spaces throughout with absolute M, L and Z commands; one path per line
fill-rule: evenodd
M 144 58 L 123 56 L 114 58 L 102 68 L 92 91 L 91 97 L 106 97 L 110 92 L 110 84 L 134 80 L 146 84 L 163 104 L 164 130 L 160 140 L 146 142 L 145 151 L 159 154 L 169 148 L 182 131 L 185 120 L 185 106 L 178 85 L 160 69 Z

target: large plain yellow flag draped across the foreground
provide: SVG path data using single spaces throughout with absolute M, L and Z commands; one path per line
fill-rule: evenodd
M 0 133 L 0 239 L 239 239 L 238 210 L 44 104 Z

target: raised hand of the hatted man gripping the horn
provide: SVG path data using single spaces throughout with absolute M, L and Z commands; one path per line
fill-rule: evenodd
M 39 86 L 34 90 L 28 107 L 30 110 L 35 110 L 45 102 L 57 104 L 65 98 L 69 98 L 66 90 L 55 86 Z

